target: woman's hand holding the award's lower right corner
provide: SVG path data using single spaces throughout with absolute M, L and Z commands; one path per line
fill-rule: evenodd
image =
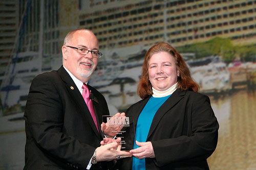
M 139 159 L 156 157 L 153 150 L 152 143 L 150 141 L 138 142 L 136 140 L 136 144 L 139 146 L 139 148 L 136 148 L 130 151 L 130 153 L 132 153 L 134 157 Z

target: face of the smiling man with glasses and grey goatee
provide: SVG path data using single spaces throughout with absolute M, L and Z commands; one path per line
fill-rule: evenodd
M 98 40 L 95 35 L 87 30 L 74 33 L 72 39 L 62 46 L 63 65 L 81 82 L 88 82 L 95 70 L 98 58 L 92 57 L 91 52 L 87 55 L 77 53 L 75 48 L 82 47 L 90 51 L 99 51 Z

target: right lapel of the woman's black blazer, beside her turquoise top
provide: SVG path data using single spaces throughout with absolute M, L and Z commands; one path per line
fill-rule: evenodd
M 154 130 L 156 129 L 158 123 L 160 122 L 161 118 L 164 114 L 170 110 L 176 103 L 178 103 L 185 95 L 185 91 L 176 90 L 164 103 L 163 105 L 157 110 L 151 127 L 150 131 L 148 132 L 147 139 L 152 135 Z

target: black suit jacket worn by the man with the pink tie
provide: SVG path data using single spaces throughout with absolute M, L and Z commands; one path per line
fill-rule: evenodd
M 100 130 L 101 116 L 109 115 L 109 109 L 103 95 L 88 87 L 94 94 L 93 106 Z M 24 117 L 27 136 L 24 169 L 85 169 L 100 146 L 102 134 L 98 133 L 81 93 L 63 66 L 34 78 Z

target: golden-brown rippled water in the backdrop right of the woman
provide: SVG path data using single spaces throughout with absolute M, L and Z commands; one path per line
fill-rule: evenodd
M 246 89 L 212 101 L 220 123 L 210 169 L 256 169 L 256 94 Z

